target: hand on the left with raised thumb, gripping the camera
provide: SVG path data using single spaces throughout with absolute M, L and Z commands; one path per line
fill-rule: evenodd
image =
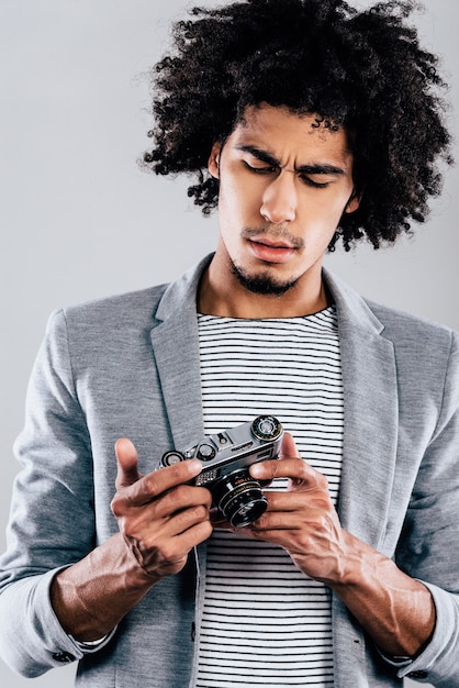
M 116 493 L 111 508 L 120 531 L 142 569 L 159 580 L 179 573 L 188 554 L 212 533 L 211 493 L 184 485 L 202 466 L 186 460 L 146 476 L 127 439 L 116 442 Z

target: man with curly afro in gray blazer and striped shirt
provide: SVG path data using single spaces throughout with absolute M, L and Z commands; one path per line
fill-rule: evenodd
M 393 242 L 439 191 L 440 80 L 410 9 L 250 0 L 176 26 L 145 164 L 198 171 L 220 241 L 169 286 L 51 321 L 2 558 L 16 670 L 459 685 L 458 336 L 323 269 L 339 237 Z M 287 432 L 250 468 L 271 482 L 250 525 L 215 513 L 201 462 L 156 470 L 260 413 Z

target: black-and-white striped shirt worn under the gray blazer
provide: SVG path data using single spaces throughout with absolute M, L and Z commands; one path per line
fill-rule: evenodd
M 278 417 L 336 501 L 343 385 L 334 307 L 291 319 L 199 315 L 199 329 L 205 433 Z M 329 590 L 281 547 L 215 531 L 205 580 L 197 688 L 333 686 Z

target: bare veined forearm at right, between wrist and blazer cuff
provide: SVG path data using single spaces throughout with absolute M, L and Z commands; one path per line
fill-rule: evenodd
M 328 582 L 349 611 L 389 655 L 415 656 L 434 632 L 429 590 L 398 566 L 345 533 L 347 556 L 342 579 Z

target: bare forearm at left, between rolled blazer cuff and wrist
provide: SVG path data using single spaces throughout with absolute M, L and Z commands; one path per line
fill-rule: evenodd
M 59 572 L 51 600 L 67 633 L 81 642 L 94 641 L 110 633 L 157 580 L 142 569 L 116 534 Z

